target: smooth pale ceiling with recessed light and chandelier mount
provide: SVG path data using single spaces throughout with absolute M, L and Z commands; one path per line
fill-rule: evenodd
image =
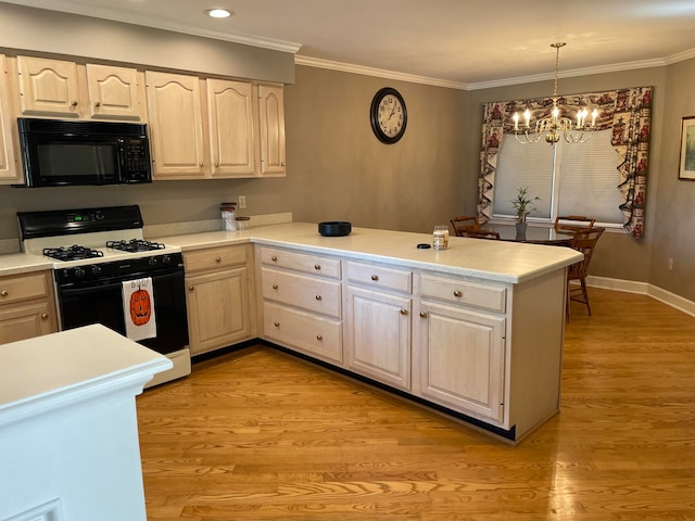
M 295 52 L 296 63 L 476 89 L 695 56 L 693 0 L 4 0 Z M 235 15 L 211 18 L 207 9 Z M 494 18 L 493 16 L 497 16 Z

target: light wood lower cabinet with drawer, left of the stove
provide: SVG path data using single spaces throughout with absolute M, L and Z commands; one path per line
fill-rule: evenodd
M 0 344 L 55 331 L 51 271 L 0 278 Z

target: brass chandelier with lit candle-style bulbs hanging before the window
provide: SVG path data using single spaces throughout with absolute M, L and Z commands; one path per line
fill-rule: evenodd
M 577 111 L 577 120 L 572 122 L 569 117 L 560 115 L 560 110 L 557 106 L 557 74 L 560 63 L 560 48 L 567 43 L 558 42 L 551 43 L 551 47 L 555 49 L 555 86 L 553 87 L 553 110 L 549 117 L 544 117 L 535 122 L 533 129 L 531 128 L 531 111 L 528 109 L 523 112 L 523 118 L 526 123 L 523 128 L 519 128 L 519 114 L 514 113 L 511 117 L 514 120 L 514 135 L 522 144 L 535 143 L 541 140 L 542 136 L 545 136 L 545 141 L 555 144 L 560 140 L 560 137 L 568 143 L 584 143 L 589 141 L 594 128 L 596 127 L 596 117 L 598 117 L 598 111 L 594 109 L 591 114 L 591 125 L 586 122 L 589 112 L 586 107 L 582 107 Z

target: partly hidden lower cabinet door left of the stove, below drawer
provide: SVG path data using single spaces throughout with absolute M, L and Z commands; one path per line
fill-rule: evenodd
M 47 301 L 0 308 L 0 344 L 54 333 L 56 330 L 55 310 Z

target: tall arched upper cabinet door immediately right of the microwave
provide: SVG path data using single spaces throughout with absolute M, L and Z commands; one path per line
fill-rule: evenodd
M 146 73 L 155 179 L 199 179 L 206 165 L 200 79 Z

